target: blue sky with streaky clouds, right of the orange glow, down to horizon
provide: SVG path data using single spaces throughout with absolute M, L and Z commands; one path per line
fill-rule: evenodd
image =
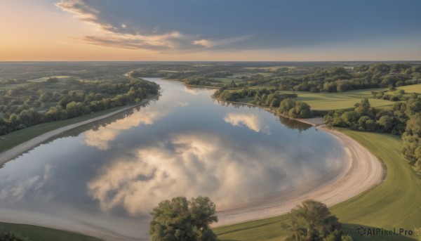
M 418 0 L 48 0 L 42 5 L 60 18 L 94 26 L 66 34 L 72 44 L 154 53 L 156 60 L 180 54 L 208 60 L 224 53 L 246 60 L 421 59 Z

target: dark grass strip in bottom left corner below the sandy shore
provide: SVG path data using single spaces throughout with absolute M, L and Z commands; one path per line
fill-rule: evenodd
M 72 233 L 54 228 L 44 228 L 26 224 L 0 223 L 0 233 L 15 231 L 29 237 L 32 241 L 101 241 L 96 237 Z

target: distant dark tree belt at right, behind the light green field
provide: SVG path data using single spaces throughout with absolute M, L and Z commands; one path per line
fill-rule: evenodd
M 332 93 L 419 84 L 420 79 L 421 65 L 375 63 L 354 67 L 352 70 L 330 67 L 300 77 L 262 77 L 260 82 L 277 86 L 279 90 Z

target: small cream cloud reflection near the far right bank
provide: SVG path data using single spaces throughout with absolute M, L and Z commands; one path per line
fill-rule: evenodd
M 224 117 L 224 121 L 232 124 L 233 126 L 241 126 L 244 124 L 248 127 L 248 129 L 253 130 L 255 132 L 262 131 L 263 133 L 269 135 L 269 126 L 262 127 L 262 121 L 258 115 L 247 115 L 242 113 L 228 113 Z

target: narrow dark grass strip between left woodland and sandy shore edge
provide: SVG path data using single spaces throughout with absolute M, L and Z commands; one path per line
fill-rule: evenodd
M 110 112 L 119 110 L 121 108 L 124 108 L 124 107 L 111 108 L 108 110 L 102 110 L 102 111 L 94 112 L 91 114 L 82 115 L 80 117 L 74 117 L 72 119 L 65 119 L 58 122 L 48 122 L 48 123 L 43 123 L 43 124 L 37 124 L 35 126 L 29 126 L 25 129 L 13 131 L 6 135 L 0 136 L 0 152 L 13 148 L 16 145 L 24 143 L 25 141 L 29 141 L 30 139 L 35 138 L 36 136 L 40 136 L 41 134 L 46 133 L 48 131 L 53 131 L 60 127 L 67 126 L 69 124 L 83 122 L 87 119 L 99 117 L 101 115 L 106 115 Z

